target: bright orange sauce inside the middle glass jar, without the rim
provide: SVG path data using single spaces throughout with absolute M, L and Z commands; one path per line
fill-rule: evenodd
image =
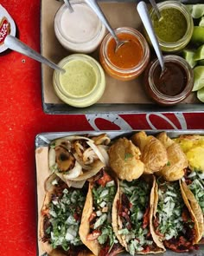
M 108 58 L 119 69 L 133 69 L 143 58 L 143 47 L 131 34 L 119 34 L 118 38 L 127 42 L 116 51 L 116 42 L 112 38 L 107 45 Z

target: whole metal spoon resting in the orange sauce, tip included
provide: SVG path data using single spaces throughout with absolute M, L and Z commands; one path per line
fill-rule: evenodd
M 101 20 L 101 22 L 104 23 L 106 29 L 109 30 L 112 37 L 115 39 L 115 41 L 116 41 L 115 51 L 117 51 L 124 43 L 128 43 L 128 41 L 122 41 L 122 40 L 118 39 L 118 36 L 116 36 L 115 31 L 112 29 L 112 26 L 110 25 L 110 23 L 106 19 L 103 11 L 100 9 L 99 4 L 97 3 L 96 0 L 86 0 L 86 3 L 92 8 L 92 10 L 95 11 L 97 16 L 99 16 L 99 19 Z

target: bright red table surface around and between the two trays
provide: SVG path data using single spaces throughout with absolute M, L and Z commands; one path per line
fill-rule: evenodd
M 40 0 L 2 0 L 1 4 L 14 18 L 17 36 L 40 51 Z M 0 91 L 0 255 L 32 256 L 36 255 L 37 233 L 35 135 L 92 130 L 95 118 L 44 114 L 41 107 L 41 64 L 16 52 L 0 54 Z M 100 130 L 204 127 L 204 115 L 198 113 L 106 115 L 106 120 L 100 115 L 98 117 L 95 124 Z

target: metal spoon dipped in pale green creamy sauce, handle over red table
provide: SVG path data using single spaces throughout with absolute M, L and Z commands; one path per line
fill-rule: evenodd
M 41 56 L 38 52 L 36 52 L 34 49 L 29 48 L 28 45 L 26 45 L 25 43 L 22 43 L 15 36 L 11 36 L 11 35 L 6 36 L 4 43 L 8 48 L 13 49 L 17 52 L 20 52 L 25 56 L 29 56 L 30 58 L 34 59 L 35 61 L 44 63 L 52 69 L 57 69 L 64 73 L 66 72 L 65 69 L 61 69 L 61 67 L 54 64 L 54 62 L 51 62 L 48 59 L 46 59 L 45 57 Z

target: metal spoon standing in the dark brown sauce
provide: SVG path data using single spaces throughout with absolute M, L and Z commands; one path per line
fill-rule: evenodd
M 146 3 L 144 3 L 143 1 L 139 2 L 137 4 L 137 11 L 138 11 L 138 14 L 139 14 L 142 22 L 143 22 L 144 28 L 147 31 L 148 36 L 150 37 L 150 41 L 156 51 L 156 56 L 158 57 L 158 61 L 162 68 L 162 73 L 160 75 L 160 77 L 161 77 L 163 75 L 164 70 L 166 69 L 164 66 L 164 61 L 163 61 L 163 53 L 159 46 Z

